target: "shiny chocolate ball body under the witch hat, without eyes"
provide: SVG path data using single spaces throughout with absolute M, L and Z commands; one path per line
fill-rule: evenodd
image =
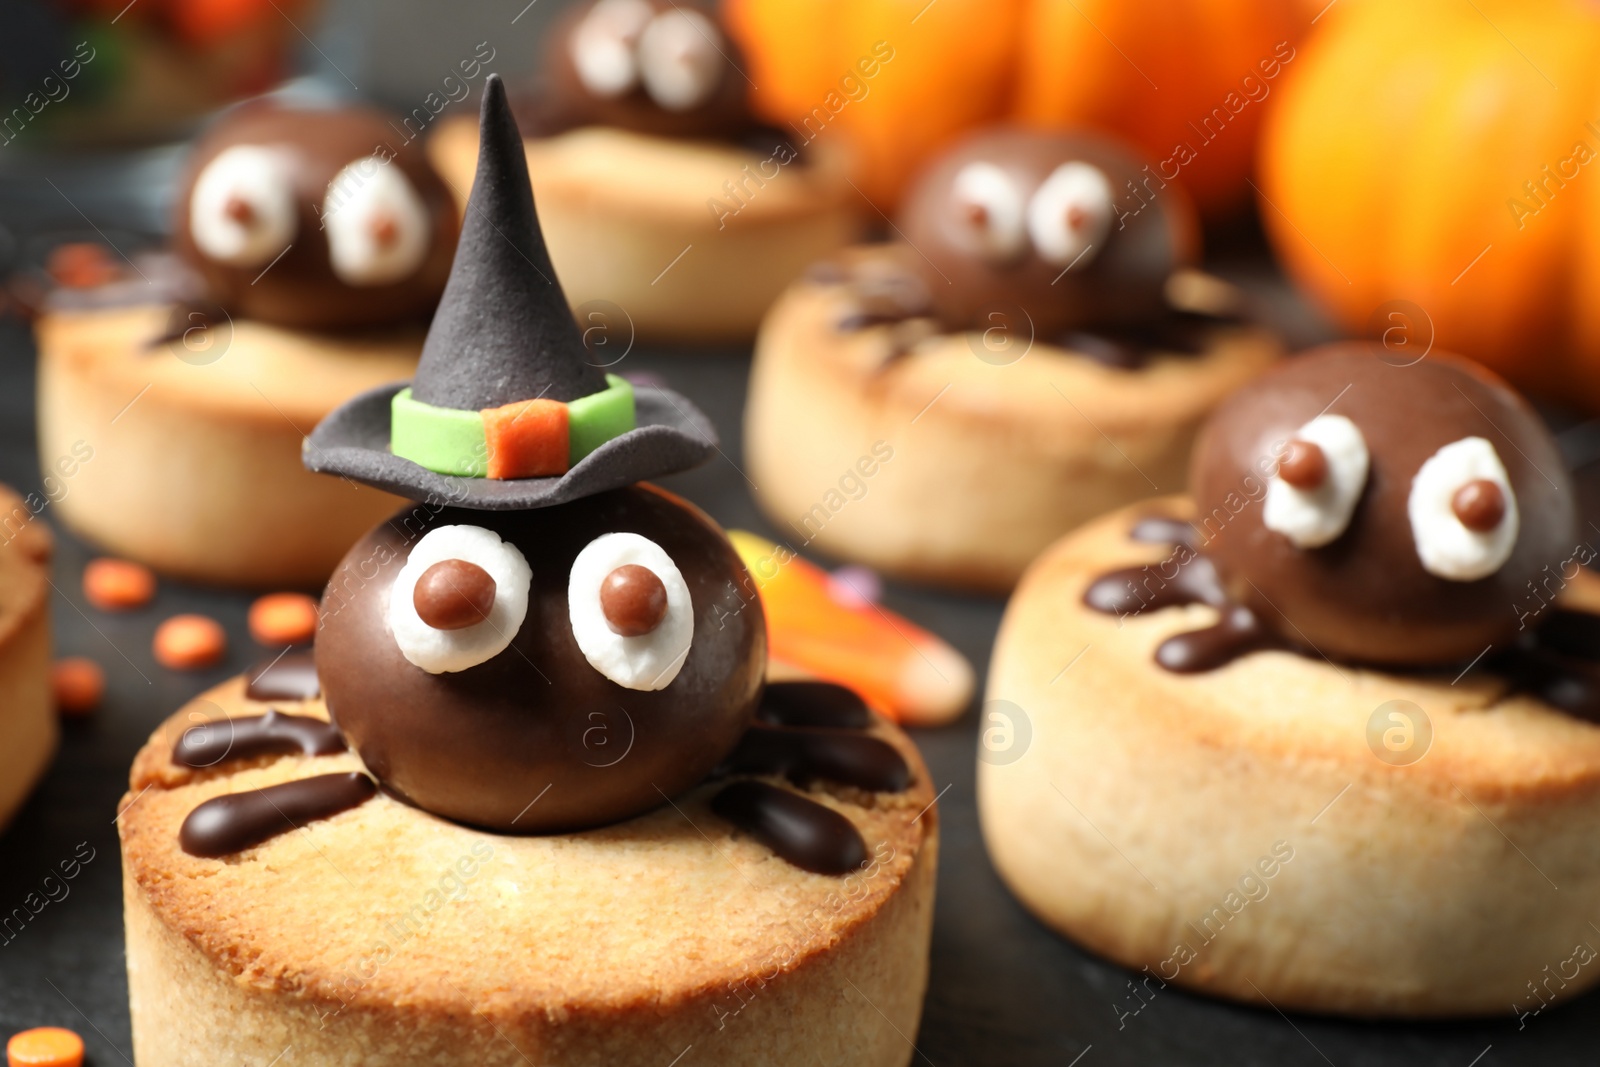
M 389 585 L 418 537 L 461 523 L 526 557 L 528 614 L 493 659 L 429 673 L 389 632 Z M 573 637 L 571 565 L 606 533 L 650 537 L 688 582 L 694 643 L 664 689 L 610 681 Z M 317 665 L 328 712 L 386 789 L 435 814 L 528 833 L 618 822 L 704 779 L 754 720 L 766 630 L 749 581 L 704 515 L 653 488 L 397 520 L 350 549 L 323 597 Z

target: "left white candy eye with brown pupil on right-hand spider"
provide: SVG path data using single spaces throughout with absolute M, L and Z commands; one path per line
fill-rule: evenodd
M 1350 525 L 1371 462 L 1366 438 L 1342 414 L 1318 414 L 1294 430 L 1267 483 L 1261 522 L 1301 549 L 1339 537 Z

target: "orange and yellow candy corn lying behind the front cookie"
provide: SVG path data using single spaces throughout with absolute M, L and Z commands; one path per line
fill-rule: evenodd
M 755 577 L 778 673 L 794 670 L 856 689 L 890 718 L 947 723 L 973 699 L 973 665 L 933 633 L 872 603 L 845 603 L 829 574 L 790 549 L 730 530 Z

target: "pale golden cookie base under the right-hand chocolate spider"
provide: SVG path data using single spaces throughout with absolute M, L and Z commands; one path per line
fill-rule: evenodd
M 989 699 L 1005 704 L 987 707 L 1026 718 L 1030 741 L 1018 758 L 986 753 L 978 798 L 1018 897 L 1131 968 L 1285 1009 L 1531 1011 L 1600 979 L 1565 974 L 1541 1000 L 1530 985 L 1594 939 L 1600 726 L 1483 669 L 1402 675 L 1266 651 L 1166 672 L 1155 646 L 1214 609 L 1117 619 L 1082 601 L 1098 576 L 1171 553 L 1128 539 L 1149 514 L 1190 504 L 1149 501 L 1059 541 L 995 641 Z M 1597 592 L 1581 574 L 1568 595 Z M 1418 761 L 1374 755 L 1389 701 L 1432 726 Z

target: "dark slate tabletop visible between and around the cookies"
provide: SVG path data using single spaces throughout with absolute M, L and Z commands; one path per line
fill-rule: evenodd
M 14 322 L 0 325 L 0 478 L 38 490 L 32 366 L 26 328 Z M 771 533 L 736 466 L 746 354 L 635 350 L 626 366 L 666 379 L 722 430 L 723 456 L 666 485 L 728 526 Z M 165 715 L 200 688 L 254 662 L 261 649 L 245 630 L 250 597 L 242 593 L 163 582 L 147 611 L 128 616 L 94 611 L 80 595 L 80 573 L 91 550 L 67 536 L 59 541 L 53 601 L 58 648 L 61 654 L 88 654 L 104 664 L 109 696 L 93 720 L 69 725 L 54 769 L 0 838 L 0 913 L 21 907 L 74 853 L 86 856 L 93 849 L 93 859 L 67 883 L 64 899 L 48 904 L 13 941 L 0 944 L 0 1037 L 32 1025 L 67 1025 L 85 1035 L 90 1062 L 107 1067 L 131 1057 L 112 825 L 128 763 Z M 885 600 L 947 637 L 979 669 L 987 662 L 1000 619 L 998 600 L 893 582 Z M 232 648 L 222 665 L 200 675 L 155 665 L 154 625 L 179 611 L 203 611 L 224 622 Z M 1133 1006 L 1130 974 L 1035 923 L 989 865 L 973 803 L 976 728 L 974 709 L 954 728 L 918 734 L 936 785 L 944 790 L 944 843 L 933 979 L 915 1062 L 1501 1067 L 1594 1061 L 1594 1038 L 1600 1035 L 1595 997 L 1546 1011 L 1523 1029 L 1509 1005 L 1504 1017 L 1488 1022 L 1370 1025 L 1283 1017 L 1173 989 L 1160 992 L 1138 1014 L 1118 1019 L 1118 1011 Z

